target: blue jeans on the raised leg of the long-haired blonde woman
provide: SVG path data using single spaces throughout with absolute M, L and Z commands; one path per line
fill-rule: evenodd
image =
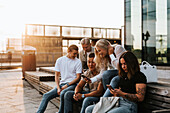
M 103 82 L 103 87 L 105 90 L 107 89 L 106 85 L 110 84 L 110 81 L 116 75 L 118 75 L 118 70 L 106 70 L 103 72 L 102 82 Z

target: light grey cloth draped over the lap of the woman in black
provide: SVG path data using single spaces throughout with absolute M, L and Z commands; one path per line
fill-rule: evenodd
M 92 113 L 106 113 L 118 106 L 119 97 L 100 97 L 100 101 L 94 106 Z

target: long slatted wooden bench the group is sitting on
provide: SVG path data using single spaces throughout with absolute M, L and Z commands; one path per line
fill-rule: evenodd
M 42 94 L 56 86 L 54 72 L 26 72 L 26 80 Z M 59 108 L 60 99 L 58 97 L 51 102 Z M 77 111 L 80 110 L 80 107 L 74 105 L 73 109 L 78 113 Z M 138 113 L 170 113 L 170 84 L 147 84 L 145 100 L 139 103 L 138 109 Z

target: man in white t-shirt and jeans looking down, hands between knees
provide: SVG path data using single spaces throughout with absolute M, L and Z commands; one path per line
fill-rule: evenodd
M 63 113 L 64 95 L 69 90 L 74 90 L 81 78 L 82 64 L 77 58 L 78 47 L 71 45 L 68 48 L 68 54 L 57 59 L 55 64 L 55 82 L 57 87 L 45 93 L 37 113 L 44 113 L 48 102 L 60 96 L 59 113 Z M 61 75 L 61 80 L 60 80 Z

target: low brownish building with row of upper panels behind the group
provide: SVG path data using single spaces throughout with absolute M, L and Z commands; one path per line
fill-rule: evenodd
M 122 32 L 119 28 L 41 24 L 27 24 L 25 28 L 24 45 L 36 48 L 37 64 L 54 64 L 58 57 L 67 53 L 71 44 L 81 49 L 80 40 L 85 37 L 93 41 L 104 38 L 121 44 Z

